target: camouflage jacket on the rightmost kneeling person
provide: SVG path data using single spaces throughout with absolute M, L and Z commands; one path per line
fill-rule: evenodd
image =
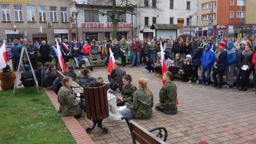
M 167 81 L 159 92 L 160 103 L 157 103 L 155 105 L 155 109 L 163 111 L 164 109 L 177 108 L 176 97 L 177 97 L 177 87 L 175 83 L 172 81 Z

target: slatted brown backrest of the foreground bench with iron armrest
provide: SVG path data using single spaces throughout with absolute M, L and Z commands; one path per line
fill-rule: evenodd
M 132 127 L 131 135 L 134 135 L 135 140 L 140 144 L 166 144 L 162 139 L 148 132 L 145 128 L 138 125 L 134 121 L 129 121 Z

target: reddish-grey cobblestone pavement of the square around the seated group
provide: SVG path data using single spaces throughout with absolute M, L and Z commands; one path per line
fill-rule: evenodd
M 145 78 L 154 95 L 154 104 L 159 101 L 162 86 L 160 78 L 147 72 L 144 67 L 125 67 L 132 75 L 134 85 L 138 78 Z M 94 68 L 92 76 L 101 76 L 107 81 L 106 68 Z M 175 79 L 178 89 L 178 114 L 167 115 L 153 108 L 153 117 L 136 121 L 146 130 L 165 126 L 168 130 L 167 144 L 256 144 L 256 94 L 230 88 L 216 90 L 210 86 L 186 84 Z M 83 113 L 78 119 L 82 127 L 92 125 Z M 126 123 L 103 123 L 110 132 L 104 134 L 100 128 L 89 134 L 96 144 L 132 144 Z

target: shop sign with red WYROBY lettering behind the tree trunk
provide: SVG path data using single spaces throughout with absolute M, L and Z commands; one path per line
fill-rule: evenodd
M 113 27 L 113 23 L 82 23 L 82 28 Z M 131 27 L 131 23 L 118 23 L 117 27 Z

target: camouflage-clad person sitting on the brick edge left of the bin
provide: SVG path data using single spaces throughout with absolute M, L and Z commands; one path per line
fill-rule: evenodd
M 71 90 L 72 85 L 71 77 L 63 78 L 63 86 L 58 91 L 58 102 L 60 103 L 58 116 L 74 116 L 79 118 L 82 115 L 82 110 L 85 106 L 80 99 L 75 99 Z

